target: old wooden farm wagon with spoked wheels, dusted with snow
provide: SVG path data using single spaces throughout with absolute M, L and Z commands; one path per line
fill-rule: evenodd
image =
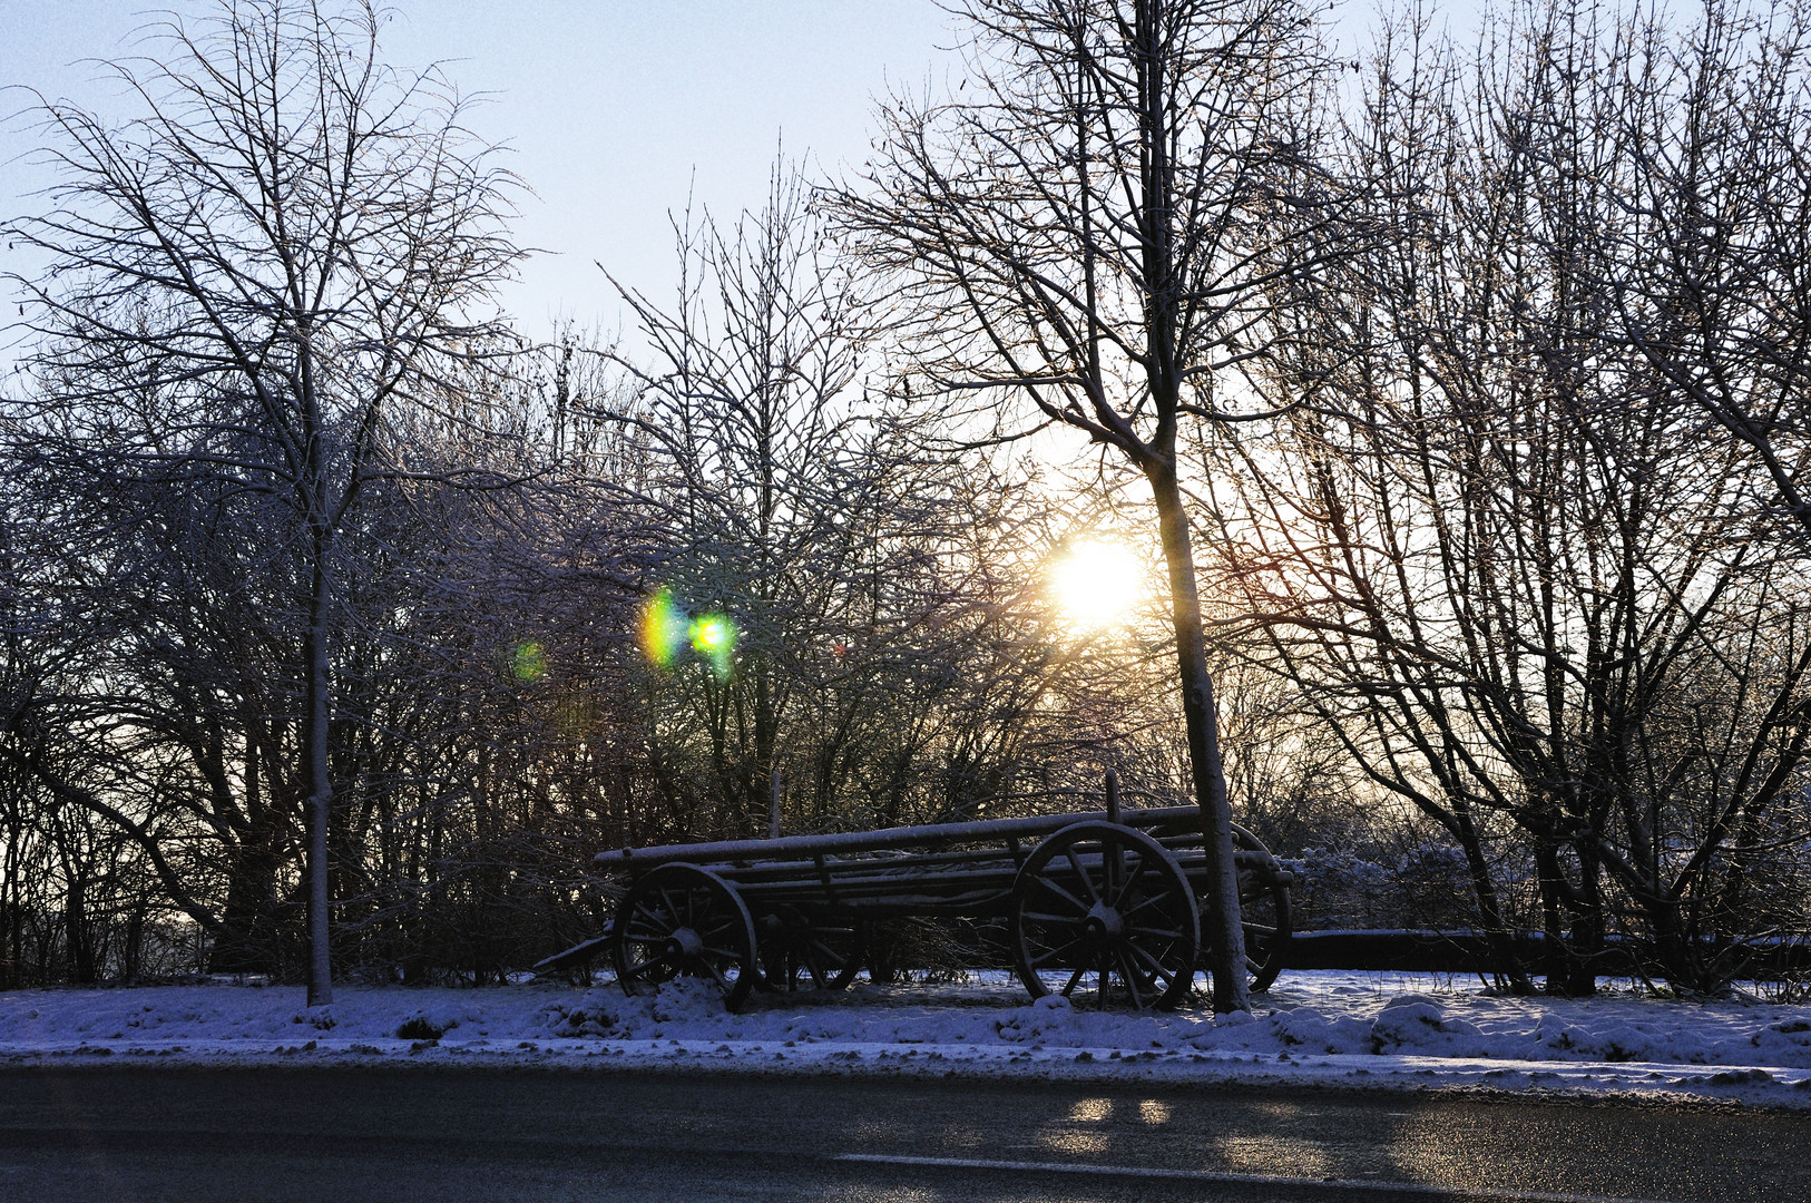
M 1260 991 L 1288 953 L 1291 877 L 1250 832 L 1233 835 Z M 623 848 L 596 866 L 625 882 L 601 940 L 623 989 L 704 978 L 730 1011 L 753 989 L 842 989 L 877 926 L 900 917 L 1003 919 L 1034 998 L 1174 1007 L 1206 966 L 1201 812 L 1121 810 L 1110 775 L 1099 812 Z

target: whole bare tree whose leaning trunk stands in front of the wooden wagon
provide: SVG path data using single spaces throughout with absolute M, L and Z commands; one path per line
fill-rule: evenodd
M 1333 216 L 1313 167 L 1324 60 L 1293 0 L 973 0 L 969 78 L 895 100 L 835 196 L 940 391 L 1018 397 L 1152 489 L 1212 855 L 1213 1006 L 1246 1009 L 1231 810 L 1177 437 L 1230 420 L 1273 281 Z M 974 91 L 967 91 L 967 89 Z M 1014 422 L 1007 420 L 1007 428 Z

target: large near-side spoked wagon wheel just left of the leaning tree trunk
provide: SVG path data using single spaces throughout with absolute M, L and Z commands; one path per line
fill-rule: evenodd
M 1174 1007 L 1195 977 L 1195 895 L 1175 857 L 1117 823 L 1074 823 L 1038 844 L 1012 884 L 1012 951 L 1032 998 L 1045 973 L 1076 998 Z

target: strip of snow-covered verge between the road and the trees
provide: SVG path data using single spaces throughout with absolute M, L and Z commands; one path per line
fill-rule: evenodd
M 1286 973 L 1253 1015 L 1097 1013 L 962 986 L 755 996 L 726 1015 L 692 982 L 491 989 L 154 986 L 0 993 L 0 1063 L 534 1063 L 753 1073 L 1626 1092 L 1811 1109 L 1811 1006 L 1668 1002 L 1621 989 L 1510 998 L 1476 980 Z

